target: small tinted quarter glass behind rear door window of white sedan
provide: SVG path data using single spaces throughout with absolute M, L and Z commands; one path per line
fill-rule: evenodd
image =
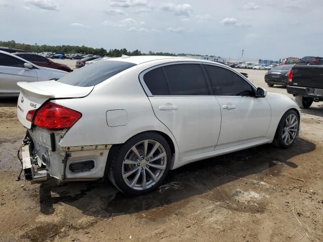
M 152 95 L 170 95 L 170 90 L 161 67 L 147 72 L 143 76 L 143 80 Z

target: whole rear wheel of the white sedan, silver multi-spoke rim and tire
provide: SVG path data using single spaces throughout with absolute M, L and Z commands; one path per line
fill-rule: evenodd
M 109 179 L 128 195 L 146 194 L 160 186 L 171 163 L 169 144 L 155 132 L 132 137 L 112 155 Z

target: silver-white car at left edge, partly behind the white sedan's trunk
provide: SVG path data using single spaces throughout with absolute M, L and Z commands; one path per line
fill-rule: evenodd
M 39 67 L 17 55 L 0 50 L 0 97 L 18 97 L 17 82 L 59 79 L 68 72 Z

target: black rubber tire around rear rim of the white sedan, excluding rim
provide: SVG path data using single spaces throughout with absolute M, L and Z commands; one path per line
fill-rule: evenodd
M 122 167 L 128 151 L 130 151 L 130 149 L 134 145 L 144 140 L 157 141 L 161 146 L 163 146 L 163 148 L 166 151 L 167 163 L 166 163 L 166 168 L 164 170 L 164 173 L 153 186 L 144 190 L 135 190 L 126 184 L 122 175 Z M 109 177 L 111 183 L 117 189 L 131 196 L 147 194 L 153 191 L 154 189 L 156 189 L 157 187 L 159 187 L 163 183 L 163 181 L 165 180 L 169 172 L 171 159 L 172 159 L 171 149 L 168 142 L 163 136 L 159 135 L 156 132 L 145 132 L 132 137 L 125 144 L 119 145 L 118 148 L 111 155 L 112 157 L 109 157 L 110 159 L 108 158 L 108 160 L 111 161 L 111 165 L 109 167 L 109 170 L 107 171 L 107 176 Z

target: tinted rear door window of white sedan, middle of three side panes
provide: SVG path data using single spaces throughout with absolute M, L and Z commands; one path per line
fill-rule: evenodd
M 178 64 L 163 67 L 171 95 L 208 95 L 199 64 Z

